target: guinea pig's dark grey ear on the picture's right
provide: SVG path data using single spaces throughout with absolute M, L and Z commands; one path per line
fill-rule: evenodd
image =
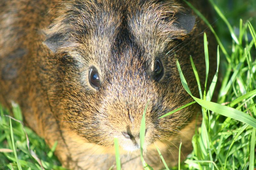
M 191 13 L 177 13 L 174 15 L 172 24 L 165 30 L 172 32 L 174 35 L 187 35 L 195 26 L 196 17 Z

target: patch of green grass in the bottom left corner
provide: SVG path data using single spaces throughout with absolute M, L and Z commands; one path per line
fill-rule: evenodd
M 13 104 L 14 118 L 0 106 L 0 169 L 65 169 L 50 149 L 22 123 L 20 108 Z

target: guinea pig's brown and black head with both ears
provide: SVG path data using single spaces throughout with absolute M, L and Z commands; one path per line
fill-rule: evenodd
M 144 147 L 178 133 L 188 109 L 159 117 L 190 100 L 175 63 L 188 56 L 166 53 L 195 18 L 174 1 L 80 0 L 64 7 L 44 44 L 60 56 L 61 103 L 78 134 L 105 146 L 117 137 L 124 150 L 137 150 L 147 103 Z

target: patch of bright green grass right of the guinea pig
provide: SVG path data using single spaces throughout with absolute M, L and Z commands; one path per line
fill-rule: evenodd
M 219 43 L 222 46 L 222 54 L 225 56 L 221 59 L 221 88 L 217 101 L 221 105 L 210 103 L 205 95 L 204 100 L 194 98 L 198 104 L 203 106 L 204 121 L 199 128 L 199 133 L 193 137 L 194 151 L 185 161 L 184 169 L 253 170 L 256 163 L 255 30 L 248 20 L 243 22 L 242 19 L 239 20 L 238 28 L 233 28 L 219 7 L 212 0 L 210 2 L 224 22 L 222 25 L 226 27 L 223 29 L 223 26 L 220 26 L 220 30 L 228 31 L 231 41 L 225 39 L 224 43 L 222 40 Z M 237 5 L 235 2 L 234 4 Z M 252 22 L 255 23 L 253 20 Z M 220 36 L 221 34 L 217 33 L 216 35 Z M 207 53 L 205 55 L 207 66 Z M 182 73 L 180 77 L 184 88 L 189 92 Z

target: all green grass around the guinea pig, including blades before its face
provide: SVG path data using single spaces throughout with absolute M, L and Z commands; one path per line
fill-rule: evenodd
M 169 169 L 253 170 L 256 166 L 256 20 L 252 18 L 256 18 L 256 3 L 254 0 L 246 2 L 236 0 L 230 6 L 228 0 L 209 1 L 212 9 L 216 11 L 217 21 L 213 25 L 196 9 L 194 10 L 214 33 L 219 48 L 216 49 L 215 56 L 209 56 L 207 33 L 204 34 L 206 80 L 200 79 L 191 56 L 191 67 L 199 85 L 200 98 L 194 97 L 195 94 L 190 92 L 177 61 L 182 85 L 195 100 L 184 107 L 196 102 L 201 105 L 203 122 L 192 140 L 194 151 L 188 155 L 185 163 L 179 163 L 177 167 L 169 167 Z M 217 68 L 211 67 L 209 57 L 217 58 Z M 212 80 L 208 79 L 209 69 L 216 70 Z M 205 86 L 209 85 L 203 88 L 209 89 L 208 91 L 201 90 L 200 81 L 205 81 Z M 207 84 L 207 81 L 210 83 Z M 220 89 L 217 89 L 219 90 L 217 102 L 214 103 L 211 99 L 217 81 L 220 81 L 221 85 Z M 171 115 L 184 107 L 164 116 Z M 145 136 L 146 109 L 147 107 L 141 120 L 141 145 Z M 10 118 L 6 116 L 9 113 L 0 107 L 0 169 L 64 169 L 53 154 L 57 143 L 52 148 L 48 148 L 42 138 L 23 126 L 20 109 L 15 104 L 12 112 L 13 118 Z M 116 162 L 119 169 L 117 142 L 115 140 Z M 151 169 L 143 159 L 142 149 L 141 147 L 143 166 L 145 169 Z M 168 158 L 162 157 L 157 146 L 156 150 L 163 166 L 168 169 L 164 161 Z

